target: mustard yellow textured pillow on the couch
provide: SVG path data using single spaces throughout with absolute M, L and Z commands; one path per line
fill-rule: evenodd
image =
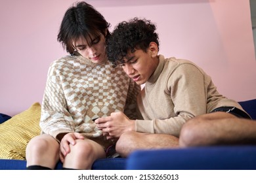
M 26 159 L 26 146 L 39 135 L 41 105 L 34 103 L 28 110 L 0 124 L 0 159 Z

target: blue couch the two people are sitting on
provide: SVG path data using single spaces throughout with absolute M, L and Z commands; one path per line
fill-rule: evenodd
M 256 120 L 256 99 L 242 101 L 240 105 Z M 0 159 L 0 170 L 3 169 L 24 170 L 26 160 Z M 58 163 L 56 169 L 62 169 L 62 164 Z M 98 159 L 93 169 L 256 170 L 256 145 L 138 150 L 129 158 Z

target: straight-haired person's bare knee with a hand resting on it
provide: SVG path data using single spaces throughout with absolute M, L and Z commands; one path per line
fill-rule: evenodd
M 105 151 L 100 144 L 89 139 L 76 140 L 75 145 L 70 144 L 70 153 L 63 162 L 68 169 L 91 169 L 93 162 L 105 158 Z

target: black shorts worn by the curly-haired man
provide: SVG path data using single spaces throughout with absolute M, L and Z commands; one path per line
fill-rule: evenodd
M 251 120 L 251 116 L 249 116 L 249 114 L 236 107 L 218 107 L 213 109 L 211 112 L 227 112 L 233 114 L 238 118 L 245 118 Z

